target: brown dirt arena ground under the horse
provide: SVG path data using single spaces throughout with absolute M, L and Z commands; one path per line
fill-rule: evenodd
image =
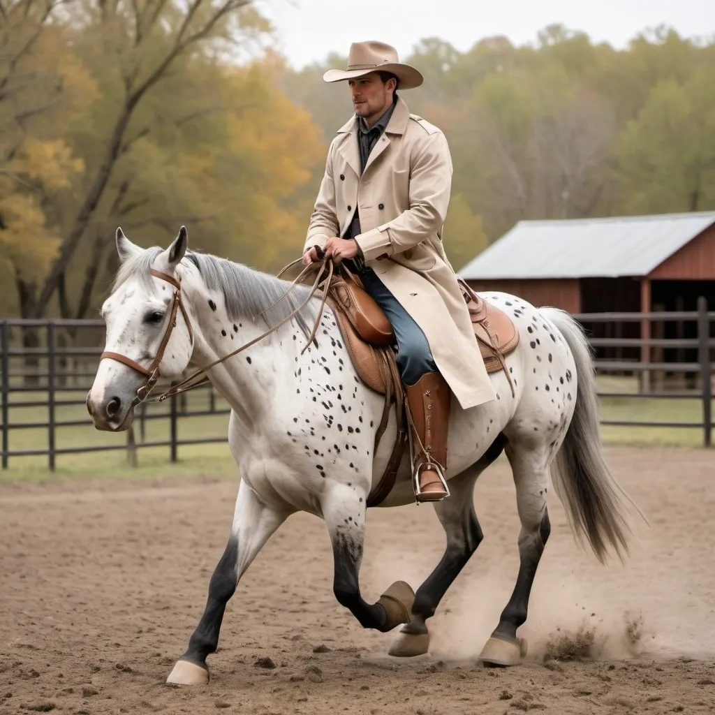
M 363 631 L 335 602 L 325 527 L 298 515 L 240 583 L 201 689 L 164 679 L 202 612 L 236 483 L 2 485 L 0 712 L 714 712 L 715 454 L 607 454 L 651 527 L 636 522 L 626 566 L 600 566 L 553 498 L 522 666 L 476 662 L 516 575 L 513 483 L 500 460 L 475 497 L 485 541 L 431 621 L 430 655 L 390 658 L 392 634 Z M 365 597 L 396 578 L 416 588 L 442 548 L 429 506 L 371 511 Z M 586 658 L 564 639 L 585 644 Z

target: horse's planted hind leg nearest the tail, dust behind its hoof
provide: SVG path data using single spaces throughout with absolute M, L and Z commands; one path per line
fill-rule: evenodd
M 551 533 L 546 498 L 548 490 L 548 448 L 525 450 L 511 443 L 506 455 L 516 485 L 516 507 L 521 521 L 519 571 L 516 584 L 498 626 L 486 642 L 479 659 L 487 666 L 513 666 L 526 656 L 526 641 L 516 631 L 526 622 L 528 601 L 536 569 Z

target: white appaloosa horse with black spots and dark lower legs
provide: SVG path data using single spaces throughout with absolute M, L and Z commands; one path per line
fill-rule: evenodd
M 376 450 L 383 397 L 360 379 L 335 312 L 326 307 L 315 339 L 307 342 L 320 307 L 309 287 L 295 285 L 279 301 L 289 282 L 187 252 L 184 227 L 165 250 L 137 247 L 119 229 L 117 250 L 121 266 L 102 307 L 104 359 L 87 396 L 94 426 L 127 429 L 134 407 L 150 389 L 168 388 L 188 372 L 213 365 L 206 374 L 232 409 L 228 441 L 240 473 L 225 552 L 169 683 L 207 683 L 206 658 L 217 648 L 227 601 L 267 539 L 296 511 L 327 524 L 337 601 L 364 628 L 390 631 L 404 624 L 390 654 L 426 653 L 426 621 L 482 540 L 473 505 L 475 481 L 502 451 L 516 484 L 521 565 L 511 598 L 480 654 L 485 664 L 518 664 L 524 655 L 517 629 L 526 621 L 549 536 L 550 472 L 576 538 L 585 536 L 600 561 L 609 547 L 621 558 L 627 552 L 627 497 L 601 453 L 593 364 L 581 328 L 561 310 L 537 309 L 519 297 L 489 292 L 484 297 L 513 320 L 519 342 L 504 357 L 503 368 L 490 373 L 496 400 L 469 410 L 453 401 L 446 473 L 451 495 L 434 505 L 447 536 L 444 556 L 416 595 L 398 581 L 378 602 L 368 603 L 358 581 L 365 512 L 385 471 L 395 419 L 390 417 Z M 232 352 L 237 354 L 222 360 Z M 414 502 L 409 461 L 409 454 L 403 455 L 380 506 Z

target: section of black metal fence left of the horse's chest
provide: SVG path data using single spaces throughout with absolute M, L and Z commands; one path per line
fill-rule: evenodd
M 229 415 L 210 385 L 141 405 L 123 435 L 94 430 L 84 401 L 104 346 L 102 321 L 0 320 L 0 342 L 3 469 L 14 458 L 42 456 L 54 470 L 59 455 L 109 450 L 126 450 L 129 464 L 136 465 L 137 451 L 152 447 L 168 448 L 167 457 L 175 462 L 179 445 L 226 440 L 224 420 L 215 434 L 179 436 L 179 425 L 191 418 Z M 168 428 L 164 438 L 148 435 L 157 422 Z M 71 439 L 62 443 L 59 435 L 68 433 Z M 18 447 L 11 447 L 11 435 Z

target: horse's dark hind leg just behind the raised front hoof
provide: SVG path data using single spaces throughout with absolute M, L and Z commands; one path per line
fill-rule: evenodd
M 390 656 L 421 656 L 429 651 L 427 619 L 434 616 L 440 601 L 483 539 L 474 511 L 473 491 L 478 476 L 501 455 L 506 438 L 503 434 L 490 445 L 482 458 L 468 470 L 450 480 L 450 498 L 435 503 L 435 513 L 447 536 L 447 546 L 440 562 L 418 588 L 410 623 L 403 626 L 393 641 Z

